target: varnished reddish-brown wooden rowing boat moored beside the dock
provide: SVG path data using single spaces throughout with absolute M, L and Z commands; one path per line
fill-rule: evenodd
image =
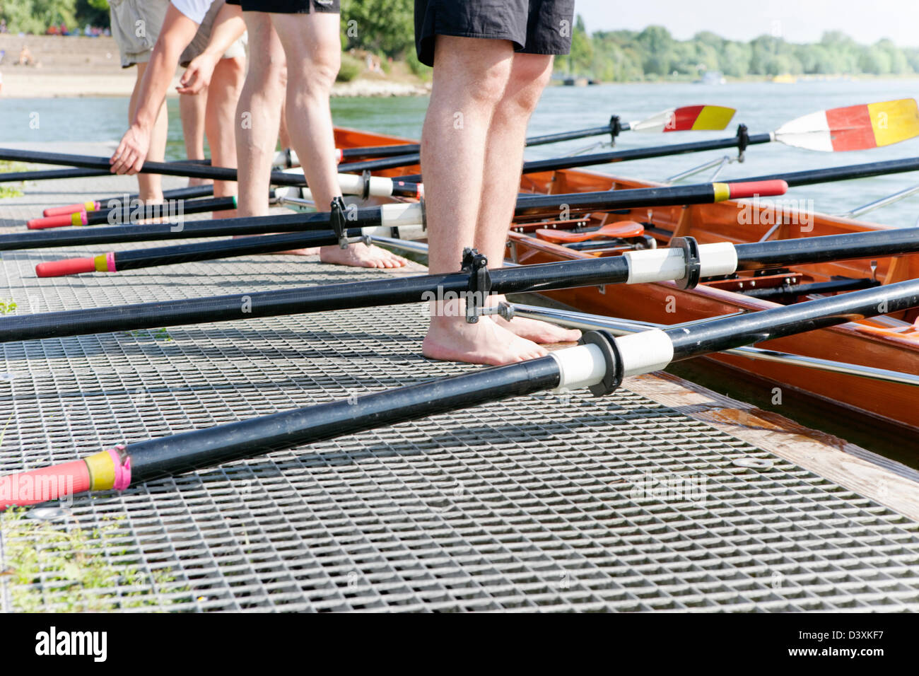
M 392 136 L 349 129 L 335 131 L 339 148 L 415 143 Z M 419 166 L 384 170 L 381 176 L 398 176 L 420 172 Z M 522 178 L 521 191 L 530 193 L 565 193 L 608 189 L 636 189 L 661 184 L 620 178 L 583 169 L 562 169 Z M 739 209 L 747 210 L 738 219 Z M 777 218 L 778 216 L 778 218 Z M 731 242 L 741 244 L 769 239 L 815 235 L 840 235 L 886 229 L 879 223 L 866 223 L 826 214 L 805 214 L 791 209 L 775 210 L 768 204 L 739 204 L 724 201 L 686 207 L 635 209 L 614 214 L 594 214 L 590 225 L 617 221 L 644 223 L 645 233 L 658 246 L 667 246 L 672 236 L 690 235 L 700 244 Z M 743 223 L 741 223 L 743 220 Z M 776 221 L 779 223 L 776 225 Z M 522 232 L 526 230 L 528 232 Z M 509 258 L 520 264 L 616 255 L 616 252 L 580 251 L 553 244 L 535 236 L 532 228 L 517 228 L 508 240 Z M 804 232 L 806 231 L 806 232 Z M 755 312 L 776 307 L 768 300 L 746 295 L 752 289 L 776 288 L 782 285 L 847 280 L 891 284 L 919 277 L 919 255 L 853 260 L 819 265 L 795 266 L 781 270 L 742 272 L 731 279 L 706 281 L 696 289 L 682 290 L 674 282 L 659 282 L 615 288 L 582 287 L 547 292 L 551 299 L 582 312 L 611 315 L 627 319 L 677 324 L 713 315 Z M 862 282 L 871 283 L 871 282 Z M 807 295 L 798 300 L 806 300 Z M 789 298 L 787 300 L 794 300 Z M 893 313 L 867 320 L 814 330 L 798 336 L 780 338 L 760 347 L 777 349 L 810 357 L 843 361 L 892 371 L 919 374 L 919 313 L 916 310 Z M 915 389 L 906 384 L 868 380 L 845 373 L 813 372 L 799 366 L 753 361 L 743 357 L 717 354 L 706 357 L 731 369 L 765 379 L 768 384 L 819 397 L 835 406 L 845 407 L 882 420 L 886 424 L 919 429 L 919 406 Z

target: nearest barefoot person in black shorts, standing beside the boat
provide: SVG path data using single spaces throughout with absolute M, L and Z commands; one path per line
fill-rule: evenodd
M 571 49 L 573 13 L 573 0 L 415 0 L 418 59 L 434 66 L 421 136 L 431 274 L 456 272 L 466 246 L 501 267 L 527 123 L 549 82 L 552 55 Z M 579 337 L 528 319 L 482 316 L 468 324 L 459 301 L 438 301 L 422 352 L 505 364 L 545 355 L 537 343 Z

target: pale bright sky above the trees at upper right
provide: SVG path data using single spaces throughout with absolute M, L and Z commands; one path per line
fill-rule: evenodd
M 664 26 L 678 40 L 701 30 L 752 40 L 764 33 L 789 42 L 816 42 L 841 30 L 857 42 L 890 38 L 919 47 L 919 0 L 574 0 L 587 30 L 641 30 Z

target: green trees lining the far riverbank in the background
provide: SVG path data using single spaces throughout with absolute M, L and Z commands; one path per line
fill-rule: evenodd
M 43 33 L 51 24 L 108 26 L 107 0 L 0 0 L 0 17 L 10 32 Z M 424 67 L 414 56 L 414 0 L 342 0 L 342 44 L 405 59 L 415 72 Z M 606 82 L 695 78 L 705 72 L 729 77 L 778 74 L 919 73 L 919 49 L 891 40 L 857 43 L 838 31 L 813 44 L 794 44 L 772 35 L 750 41 L 725 40 L 712 32 L 676 40 L 662 26 L 588 33 L 584 19 L 573 26 L 572 52 L 557 70 Z

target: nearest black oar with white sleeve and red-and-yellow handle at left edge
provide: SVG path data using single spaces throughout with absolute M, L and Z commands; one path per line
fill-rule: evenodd
M 746 315 L 655 328 L 620 338 L 606 331 L 591 331 L 584 334 L 582 344 L 577 347 L 559 349 L 530 361 L 475 369 L 312 407 L 131 441 L 83 459 L 5 475 L 0 477 L 0 509 L 85 492 L 126 490 L 153 479 L 514 396 L 538 392 L 565 394 L 584 389 L 593 395 L 607 395 L 617 390 L 623 379 L 659 371 L 674 361 L 917 305 L 919 281 L 912 280 Z

